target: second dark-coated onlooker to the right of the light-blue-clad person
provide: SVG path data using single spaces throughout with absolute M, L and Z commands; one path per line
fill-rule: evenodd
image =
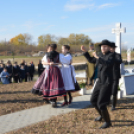
M 18 83 L 19 81 L 19 71 L 20 71 L 20 68 L 17 65 L 17 62 L 15 62 L 13 66 L 13 78 L 14 78 L 15 83 Z

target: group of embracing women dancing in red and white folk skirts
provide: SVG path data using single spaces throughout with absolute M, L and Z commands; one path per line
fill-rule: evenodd
M 57 107 L 57 97 L 60 96 L 64 96 L 64 103 L 61 106 L 71 104 L 71 92 L 79 90 L 74 67 L 71 65 L 70 46 L 63 45 L 61 54 L 56 49 L 56 44 L 48 45 L 47 53 L 42 59 L 45 70 L 32 88 L 33 94 L 42 95 L 47 103 L 51 102 L 52 107 Z M 61 65 L 61 68 L 58 65 Z

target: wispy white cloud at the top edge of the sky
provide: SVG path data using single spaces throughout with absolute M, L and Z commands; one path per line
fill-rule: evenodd
M 104 9 L 119 6 L 117 3 L 104 3 L 101 5 L 96 5 L 92 0 L 70 0 L 65 6 L 66 11 L 79 11 L 82 9 Z

